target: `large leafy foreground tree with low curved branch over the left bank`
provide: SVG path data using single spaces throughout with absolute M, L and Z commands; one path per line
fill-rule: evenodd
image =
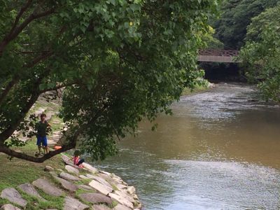
M 116 137 L 153 121 L 195 85 L 196 53 L 216 12 L 213 0 L 0 0 L 0 152 L 43 162 L 74 148 L 95 160 Z M 64 88 L 61 149 L 41 158 L 13 151 L 27 113 L 44 92 Z

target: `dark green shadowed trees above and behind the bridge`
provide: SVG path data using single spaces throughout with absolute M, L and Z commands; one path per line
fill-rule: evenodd
M 228 48 L 239 50 L 244 45 L 246 28 L 251 18 L 259 15 L 265 8 L 276 5 L 279 0 L 225 0 L 221 6 L 221 18 L 214 22 L 218 39 Z

